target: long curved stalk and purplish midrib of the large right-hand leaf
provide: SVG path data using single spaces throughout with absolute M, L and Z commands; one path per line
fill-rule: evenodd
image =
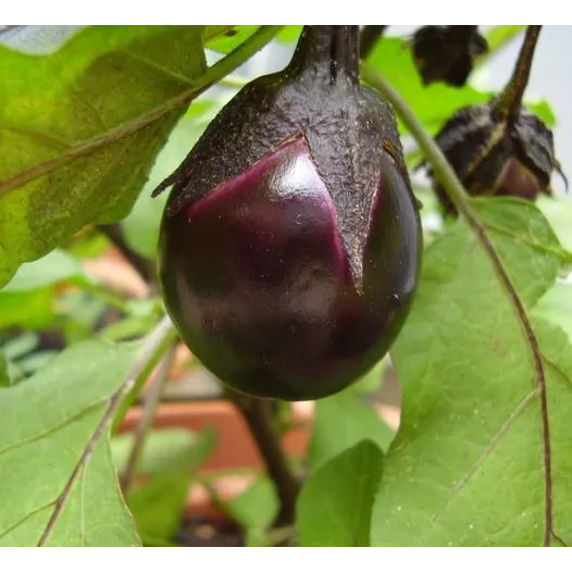
M 416 139 L 419 147 L 427 158 L 435 176 L 439 181 L 440 185 L 445 189 L 447 197 L 456 207 L 457 211 L 467 221 L 471 229 L 475 233 L 478 241 L 483 249 L 488 254 L 490 262 L 499 277 L 502 286 L 505 287 L 507 295 L 514 308 L 517 318 L 522 326 L 524 336 L 526 338 L 529 348 L 532 353 L 534 362 L 536 385 L 538 389 L 538 396 L 540 401 L 540 418 L 542 418 L 542 432 L 544 443 L 544 473 L 545 473 L 545 530 L 543 546 L 549 546 L 550 538 L 552 537 L 552 522 L 554 522 L 554 509 L 552 509 L 552 463 L 551 463 L 551 450 L 550 450 L 550 427 L 548 421 L 548 402 L 546 395 L 546 378 L 543 364 L 543 358 L 540 353 L 540 347 L 531 321 L 526 313 L 526 309 L 519 294 L 514 289 L 510 276 L 508 275 L 502 261 L 495 246 L 488 236 L 485 226 L 481 222 L 477 213 L 473 209 L 467 192 L 457 177 L 451 165 L 443 154 L 442 150 L 426 132 L 422 123 L 416 119 L 415 114 L 411 111 L 409 105 L 403 101 L 401 96 L 382 77 L 371 65 L 362 64 L 363 78 L 376 88 L 383 97 L 385 97 L 396 113 L 400 116 L 403 124 L 408 127 L 410 133 Z

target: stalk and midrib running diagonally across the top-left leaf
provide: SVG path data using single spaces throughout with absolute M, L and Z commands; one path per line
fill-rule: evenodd
M 274 38 L 283 26 L 284 24 L 266 24 L 261 26 L 254 34 L 252 34 L 252 36 L 240 43 L 240 46 L 235 48 L 222 60 L 217 61 L 212 67 L 209 67 L 204 75 L 194 82 L 194 86 L 189 87 L 178 96 L 165 101 L 158 108 L 122 123 L 117 127 L 110 129 L 102 135 L 78 142 L 53 159 L 49 159 L 43 163 L 38 163 L 29 169 L 25 169 L 16 175 L 0 182 L 0 198 L 14 189 L 22 187 L 26 183 L 35 181 L 36 178 L 49 173 L 53 173 L 64 165 L 73 163 L 83 157 L 87 157 L 99 149 L 108 147 L 115 141 L 129 137 L 130 135 L 149 127 L 171 113 L 178 112 L 182 108 L 190 103 L 192 99 L 197 98 L 200 94 L 216 84 L 222 77 L 239 67 L 251 55 L 262 49 L 272 38 Z

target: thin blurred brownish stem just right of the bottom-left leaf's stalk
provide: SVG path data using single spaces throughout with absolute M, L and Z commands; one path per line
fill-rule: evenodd
M 167 352 L 161 361 L 161 366 L 157 372 L 156 378 L 149 388 L 149 391 L 144 398 L 142 414 L 137 427 L 134 432 L 134 442 L 133 447 L 127 459 L 127 465 L 125 472 L 121 480 L 121 488 L 123 494 L 126 496 L 133 486 L 135 475 L 137 473 L 137 465 L 139 458 L 141 456 L 142 448 L 145 446 L 145 440 L 149 430 L 154 420 L 157 408 L 161 401 L 161 396 L 165 388 L 166 383 L 169 382 L 169 372 L 171 371 L 171 365 L 173 364 L 173 358 L 175 356 L 175 345 L 172 344 Z

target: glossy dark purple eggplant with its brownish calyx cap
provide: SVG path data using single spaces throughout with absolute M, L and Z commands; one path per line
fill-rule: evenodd
M 256 80 L 165 182 L 166 310 L 208 370 L 262 398 L 356 382 L 389 349 L 418 283 L 395 120 L 351 73 L 332 82 L 322 69 Z

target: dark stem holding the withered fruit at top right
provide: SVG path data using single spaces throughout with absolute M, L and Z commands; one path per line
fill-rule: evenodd
M 514 64 L 512 76 L 495 105 L 497 112 L 502 116 L 514 119 L 520 114 L 522 97 L 529 85 L 532 61 L 538 42 L 538 36 L 540 35 L 540 24 L 531 24 L 526 28 L 526 34 L 519 58 Z

